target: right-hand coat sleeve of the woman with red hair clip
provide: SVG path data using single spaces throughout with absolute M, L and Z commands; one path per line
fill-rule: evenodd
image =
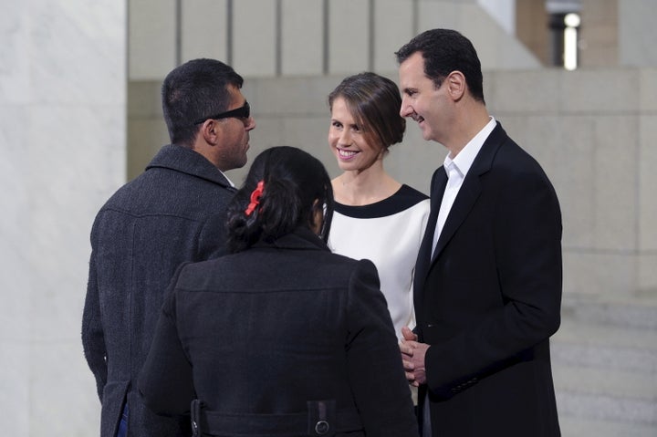
M 349 380 L 368 436 L 417 436 L 411 390 L 376 267 L 358 263 L 349 282 Z

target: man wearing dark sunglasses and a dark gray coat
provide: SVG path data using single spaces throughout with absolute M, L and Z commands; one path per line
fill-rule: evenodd
M 214 59 L 175 68 L 162 85 L 171 144 L 100 209 L 91 229 L 82 343 L 102 406 L 101 437 L 188 435 L 189 419 L 148 411 L 133 381 L 175 268 L 223 250 L 223 213 L 255 120 L 243 78 Z

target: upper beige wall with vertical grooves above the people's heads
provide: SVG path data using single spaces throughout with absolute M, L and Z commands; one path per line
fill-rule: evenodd
M 476 0 L 130 0 L 129 78 L 162 80 L 177 62 L 215 57 L 249 77 L 395 68 L 422 30 L 456 28 L 491 68 L 537 58 Z

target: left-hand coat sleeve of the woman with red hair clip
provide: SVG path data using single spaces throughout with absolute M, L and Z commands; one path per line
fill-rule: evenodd
M 184 352 L 176 323 L 175 286 L 185 264 L 178 267 L 166 291 L 151 349 L 137 381 L 144 404 L 151 411 L 166 416 L 189 414 L 195 398 L 192 365 Z

